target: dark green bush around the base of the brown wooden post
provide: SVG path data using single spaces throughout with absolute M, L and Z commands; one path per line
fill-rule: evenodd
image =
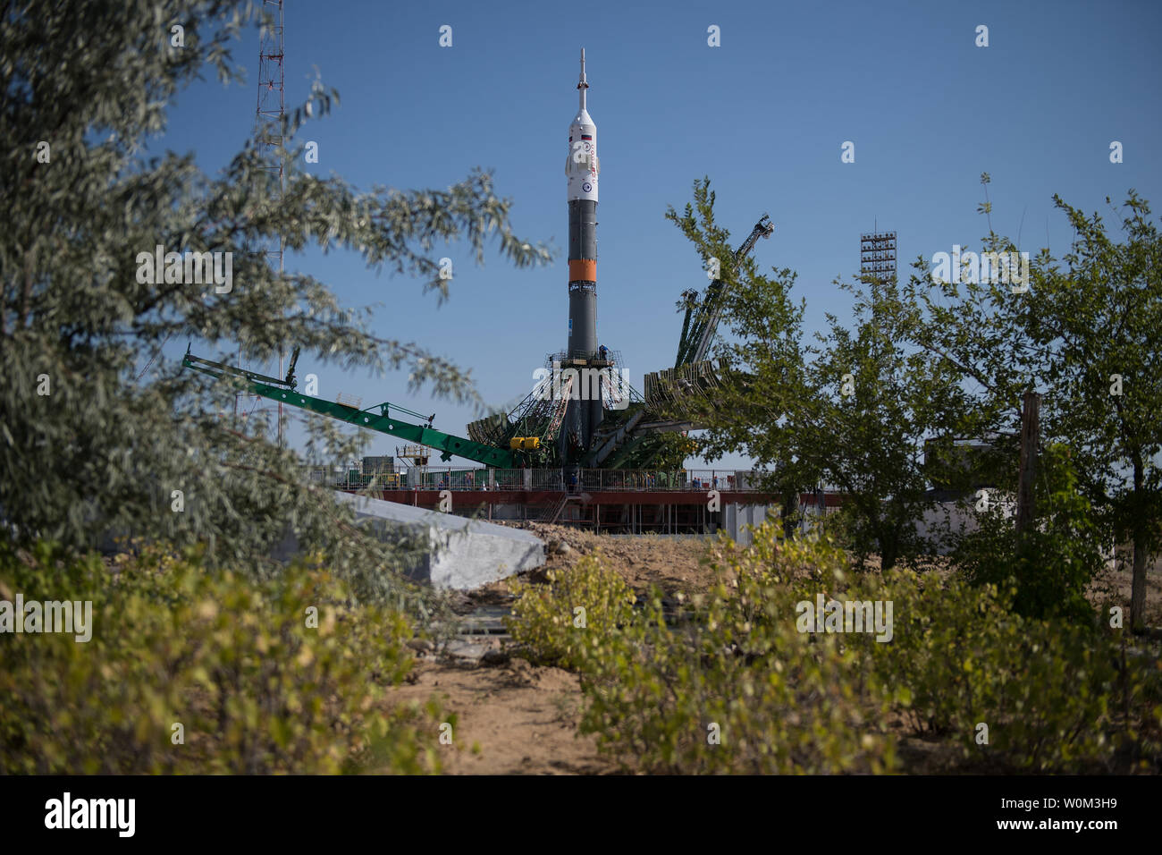
M 1038 459 L 1035 519 L 1018 536 L 999 501 L 977 515 L 980 528 L 953 553 L 974 584 L 1012 587 L 1012 606 L 1032 618 L 1061 618 L 1091 625 L 1085 587 L 1102 570 L 1100 533 L 1089 501 L 1077 491 L 1068 449 L 1049 446 Z

